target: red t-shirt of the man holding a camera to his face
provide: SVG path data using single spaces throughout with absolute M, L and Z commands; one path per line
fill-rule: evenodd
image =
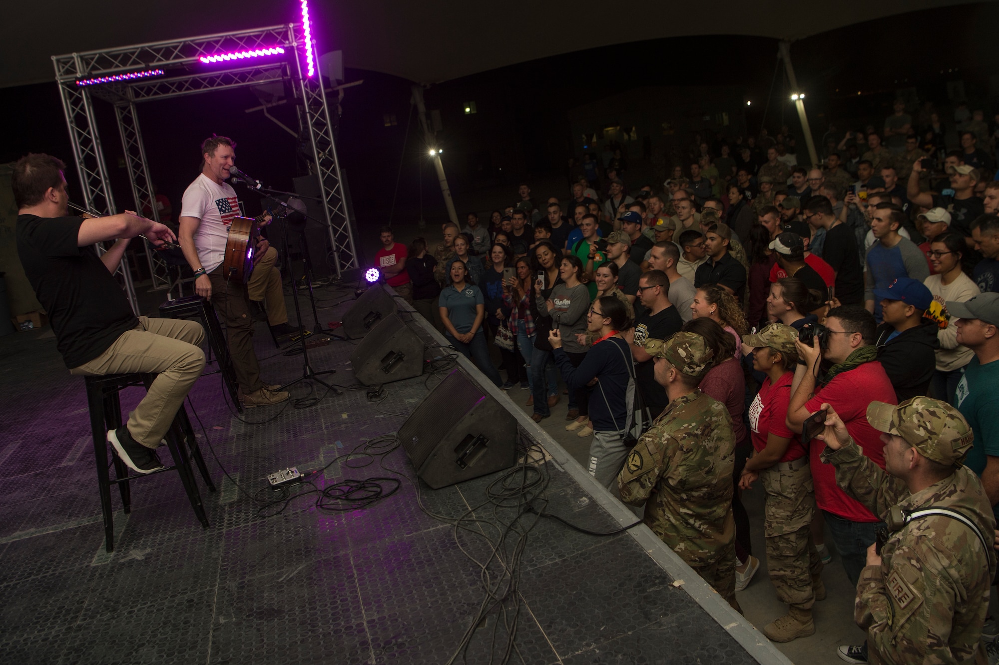
M 881 432 L 867 422 L 867 405 L 872 401 L 898 403 L 895 388 L 888 380 L 888 374 L 884 373 L 884 367 L 876 360 L 864 362 L 856 369 L 836 374 L 828 385 L 805 403 L 805 408 L 809 413 L 814 413 L 822 402 L 831 404 L 863 453 L 884 468 L 884 443 L 881 442 Z M 808 462 L 811 466 L 812 480 L 815 484 L 815 502 L 818 503 L 818 507 L 853 522 L 879 521 L 880 518 L 875 517 L 870 510 L 859 501 L 847 496 L 836 485 L 835 468 L 832 464 L 823 464 L 819 458 L 824 448 L 824 442 L 817 438 L 811 440 Z

